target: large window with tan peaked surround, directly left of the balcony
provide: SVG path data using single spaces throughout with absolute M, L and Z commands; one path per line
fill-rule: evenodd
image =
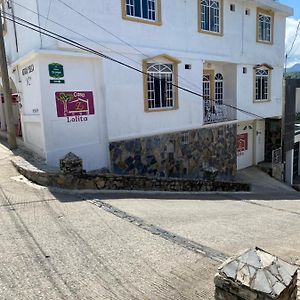
M 161 61 L 159 61 L 161 58 Z M 172 110 L 178 107 L 178 62 L 163 56 L 144 62 L 145 111 Z

